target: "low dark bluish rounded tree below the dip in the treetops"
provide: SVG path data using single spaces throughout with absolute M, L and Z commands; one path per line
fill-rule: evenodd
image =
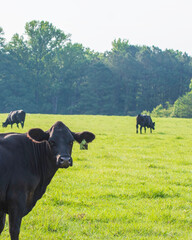
M 79 110 L 86 114 L 115 112 L 113 74 L 101 61 L 95 59 L 90 63 L 80 89 Z

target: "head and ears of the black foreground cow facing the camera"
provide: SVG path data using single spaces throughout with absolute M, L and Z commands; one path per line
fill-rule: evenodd
M 48 131 L 34 128 L 29 130 L 28 137 L 33 141 L 48 141 L 51 153 L 58 168 L 68 168 L 73 165 L 71 157 L 73 142 L 81 143 L 82 139 L 91 142 L 95 135 L 91 132 L 74 133 L 62 122 L 56 122 Z

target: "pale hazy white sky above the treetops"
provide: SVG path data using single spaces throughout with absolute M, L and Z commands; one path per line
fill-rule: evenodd
M 27 22 L 43 20 L 99 52 L 121 38 L 192 55 L 192 0 L 2 0 L 0 7 L 8 41 Z

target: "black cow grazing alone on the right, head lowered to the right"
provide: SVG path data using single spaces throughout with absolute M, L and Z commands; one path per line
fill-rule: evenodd
M 150 132 L 152 133 L 152 129 L 155 130 L 155 122 L 152 122 L 152 119 L 150 116 L 147 115 L 141 115 L 139 114 L 136 118 L 136 133 L 138 133 L 138 125 L 140 125 L 140 133 L 142 133 L 142 127 L 145 129 L 146 133 L 146 127 L 150 128 Z

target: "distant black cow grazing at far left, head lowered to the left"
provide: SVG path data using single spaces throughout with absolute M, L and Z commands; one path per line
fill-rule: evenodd
M 17 127 L 19 128 L 19 123 L 21 123 L 21 127 L 24 127 L 24 122 L 25 122 L 25 112 L 23 110 L 16 110 L 16 111 L 12 111 L 9 113 L 6 121 L 2 124 L 3 127 L 7 127 L 7 125 L 12 125 L 14 123 L 17 124 Z

